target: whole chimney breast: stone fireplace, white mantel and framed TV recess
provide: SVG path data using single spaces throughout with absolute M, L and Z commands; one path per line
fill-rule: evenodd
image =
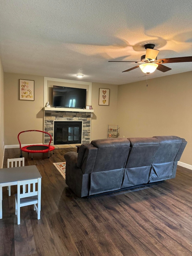
M 52 105 L 53 105 L 52 104 L 52 102 L 53 102 L 53 86 L 64 86 L 64 87 L 86 89 L 86 105 L 91 106 L 92 83 L 44 77 L 44 106 L 46 106 L 47 101 L 49 101 L 49 104 L 51 106 L 51 107 L 44 107 L 44 131 L 46 131 L 52 135 L 51 145 L 53 145 L 53 140 L 55 137 L 54 136 L 54 122 L 55 121 L 81 121 L 82 122 L 82 131 L 81 131 L 82 137 L 81 137 L 80 143 L 82 143 L 82 144 L 90 143 L 91 113 L 93 113 L 94 110 L 93 109 L 78 109 L 78 108 L 72 108 L 72 107 L 70 107 L 70 108 L 52 107 Z M 62 129 L 60 129 L 60 132 L 61 132 L 61 130 Z M 62 132 L 64 132 L 64 131 L 62 130 Z M 44 144 L 49 144 L 49 137 L 47 137 L 46 135 L 44 137 Z M 64 137 L 65 136 L 67 137 L 66 134 L 64 135 Z M 69 136 L 71 136 L 71 135 L 69 135 Z M 76 133 L 73 134 L 73 136 L 76 136 Z M 65 140 L 65 139 L 62 138 L 62 140 Z M 57 142 L 55 142 L 55 143 L 57 143 Z M 75 144 L 80 144 L 80 143 L 70 143 L 70 144 L 75 145 Z M 70 145 L 70 144 L 68 144 L 68 145 Z M 54 144 L 54 145 L 57 145 L 57 144 Z M 66 146 L 68 146 L 68 145 L 66 145 Z

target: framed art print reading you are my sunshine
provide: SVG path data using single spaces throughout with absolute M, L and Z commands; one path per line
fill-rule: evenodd
M 19 100 L 34 101 L 34 80 L 19 79 Z

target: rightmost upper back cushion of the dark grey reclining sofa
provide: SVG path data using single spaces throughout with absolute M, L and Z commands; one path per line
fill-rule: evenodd
M 154 136 L 159 140 L 159 149 L 153 164 L 175 161 L 176 155 L 182 145 L 182 139 L 177 136 Z

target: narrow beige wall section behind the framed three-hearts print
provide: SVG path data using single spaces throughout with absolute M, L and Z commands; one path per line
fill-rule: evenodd
M 99 106 L 99 88 L 110 89 L 109 106 Z M 91 140 L 107 138 L 108 124 L 117 124 L 117 85 L 92 83 Z

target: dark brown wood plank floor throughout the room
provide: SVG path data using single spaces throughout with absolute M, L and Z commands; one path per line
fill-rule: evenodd
M 55 149 L 48 159 L 27 153 L 25 165 L 42 175 L 41 219 L 33 206 L 21 208 L 17 225 L 14 194 L 3 188 L 0 255 L 192 255 L 192 171 L 179 167 L 176 179 L 83 199 L 73 194 L 52 164 L 76 149 Z M 7 158 L 19 149 L 6 149 Z

